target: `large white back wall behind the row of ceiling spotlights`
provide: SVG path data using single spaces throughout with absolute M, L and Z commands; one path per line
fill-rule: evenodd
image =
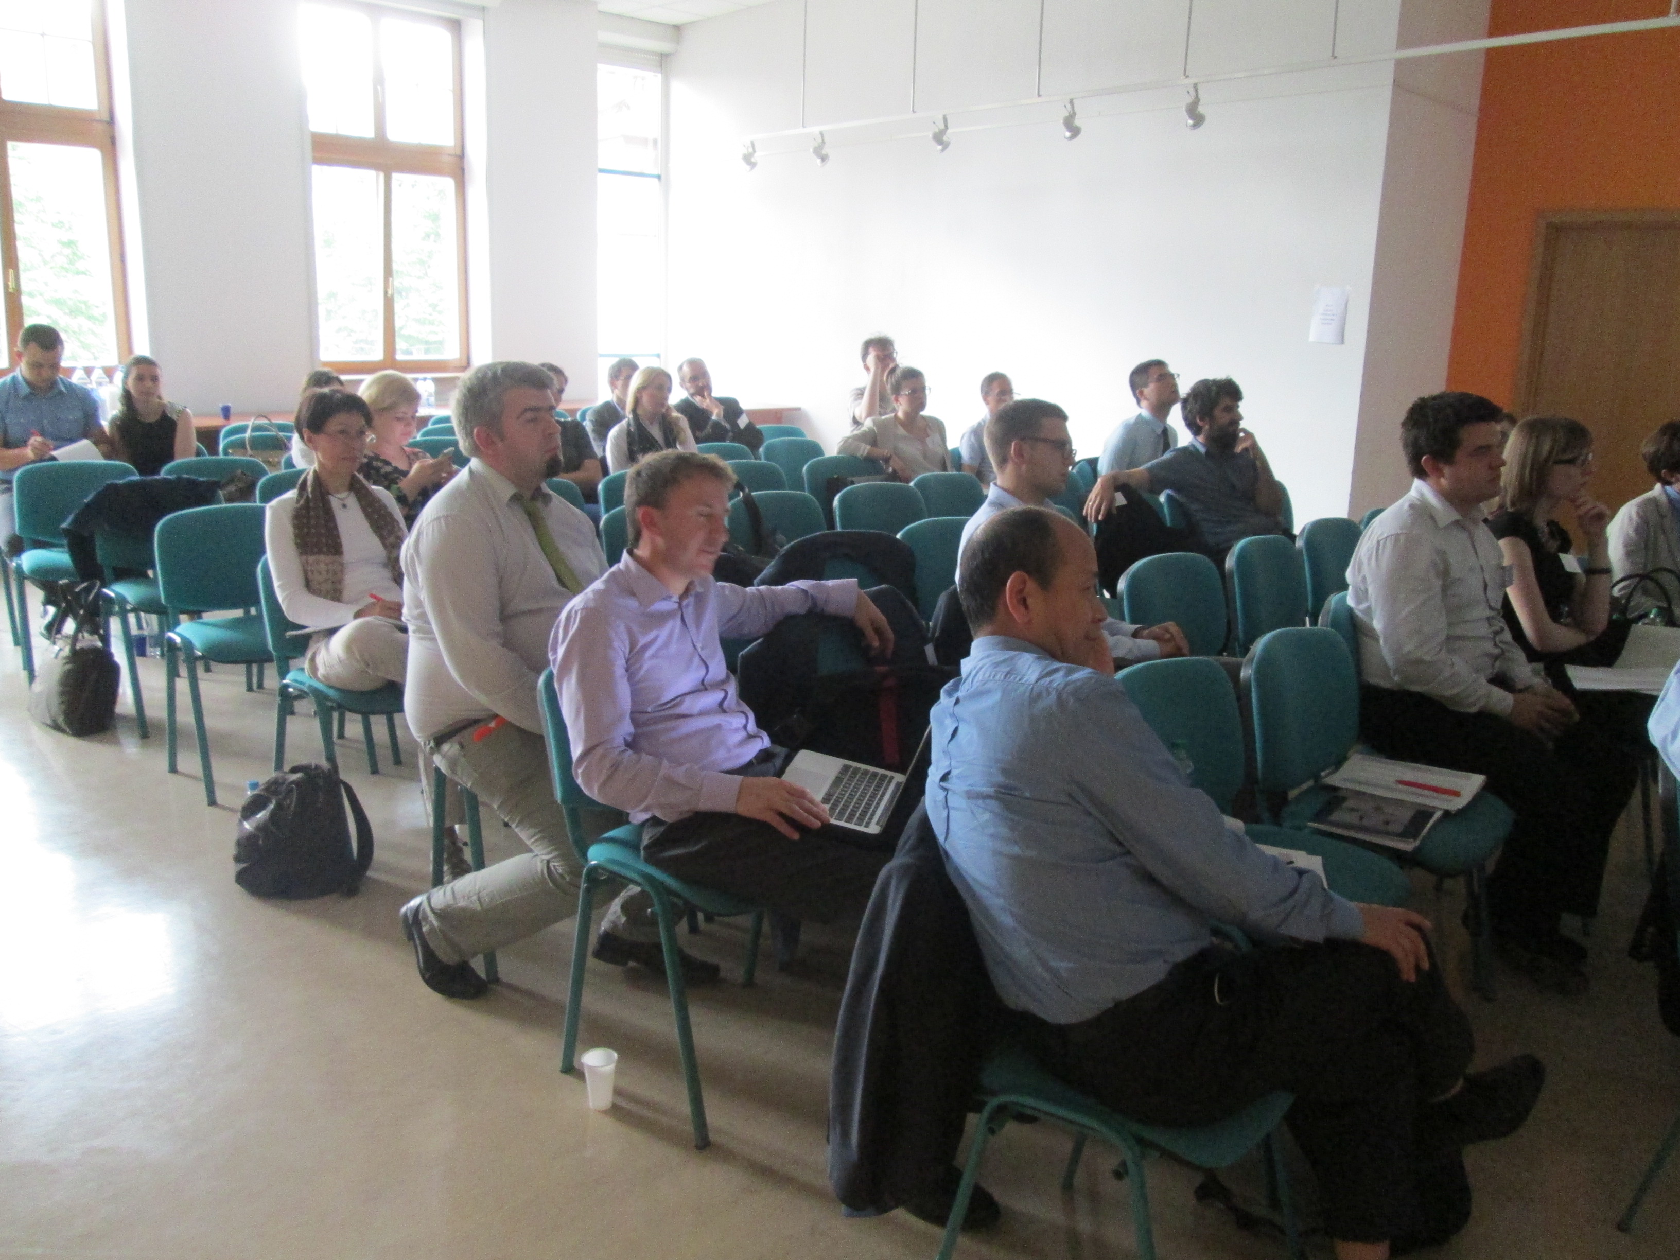
M 1194 133 L 1168 89 L 1082 101 L 1072 143 L 1060 111 L 1040 108 L 976 133 L 953 118 L 942 155 L 926 123 L 835 131 L 825 168 L 808 139 L 768 141 L 748 173 L 743 136 L 801 123 L 801 52 L 810 124 L 909 108 L 914 5 L 867 7 L 864 20 L 850 0 L 811 0 L 803 49 L 800 0 L 684 29 L 669 59 L 669 353 L 706 356 L 719 390 L 753 405 L 806 407 L 832 444 L 860 381 L 857 343 L 884 329 L 927 371 L 953 437 L 981 410 L 979 378 L 1001 370 L 1067 407 L 1089 454 L 1131 412 L 1126 371 L 1163 356 L 1186 385 L 1242 383 L 1297 519 L 1344 512 L 1389 67 L 1210 84 Z M 922 0 L 917 108 L 1030 96 L 1037 40 L 1016 29 L 1037 8 L 984 0 L 974 18 Z M 1329 54 L 1331 0 L 1198 0 L 1194 13 L 1193 74 Z M 1184 17 L 1186 0 L 1050 0 L 1043 91 L 1176 76 Z M 1339 49 L 1394 47 L 1399 18 L 1399 0 L 1344 0 Z M 879 139 L 890 134 L 904 138 Z M 1307 343 L 1317 284 L 1352 289 L 1344 346 Z M 1448 321 L 1450 299 L 1448 286 Z

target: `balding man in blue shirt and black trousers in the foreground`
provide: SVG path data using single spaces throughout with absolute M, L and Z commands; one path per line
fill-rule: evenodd
M 1470 1025 L 1430 924 L 1351 904 L 1226 828 L 1110 675 L 1077 526 L 1000 512 L 958 590 L 976 640 L 932 712 L 927 818 L 998 996 L 1035 1016 L 1033 1050 L 1154 1124 L 1289 1090 L 1341 1260 L 1445 1242 L 1423 1236 L 1423 1169 L 1462 1184 L 1458 1151 L 1522 1124 L 1539 1060 L 1465 1077 Z M 1215 924 L 1260 944 L 1223 948 Z

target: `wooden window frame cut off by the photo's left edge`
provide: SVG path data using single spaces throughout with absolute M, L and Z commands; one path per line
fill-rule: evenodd
M 116 128 L 111 123 L 111 49 L 106 42 L 104 0 L 92 0 L 94 86 L 97 106 L 34 104 L 0 97 L 0 270 L 5 272 L 7 361 L 24 331 L 24 294 L 18 286 L 17 223 L 12 215 L 10 141 L 22 144 L 69 144 L 99 150 L 106 188 L 106 232 L 111 250 L 111 314 L 116 321 L 118 360 L 134 353 L 128 318 L 128 255 L 123 247 L 123 215 L 118 198 Z M 99 365 L 118 366 L 118 365 Z

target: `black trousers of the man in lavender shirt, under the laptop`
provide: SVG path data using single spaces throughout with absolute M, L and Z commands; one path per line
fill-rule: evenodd
M 766 749 L 736 774 L 780 771 L 781 749 Z M 867 848 L 872 837 L 848 842 L 842 828 L 822 827 L 790 840 L 769 823 L 739 813 L 690 813 L 674 823 L 650 818 L 642 828 L 642 857 L 677 879 L 729 892 L 790 919 L 855 919 L 869 906 L 875 875 L 892 858 L 890 847 Z

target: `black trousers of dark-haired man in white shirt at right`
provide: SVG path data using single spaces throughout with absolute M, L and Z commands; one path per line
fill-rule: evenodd
M 1609 833 L 1638 764 L 1583 711 L 1554 744 L 1485 712 L 1458 712 L 1411 690 L 1361 687 L 1361 734 L 1384 756 L 1487 774 L 1517 815 L 1488 879 L 1495 924 L 1552 932 L 1559 914 L 1598 914 Z

